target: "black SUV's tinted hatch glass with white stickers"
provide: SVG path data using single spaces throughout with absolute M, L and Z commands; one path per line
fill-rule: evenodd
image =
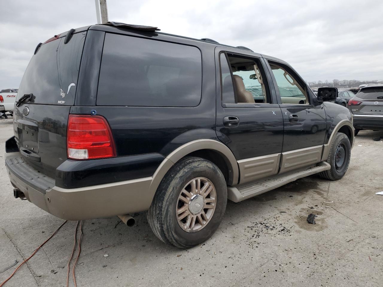
M 67 44 L 65 37 L 43 44 L 25 70 L 16 101 L 32 93 L 31 103 L 73 105 L 85 35 L 76 33 Z

